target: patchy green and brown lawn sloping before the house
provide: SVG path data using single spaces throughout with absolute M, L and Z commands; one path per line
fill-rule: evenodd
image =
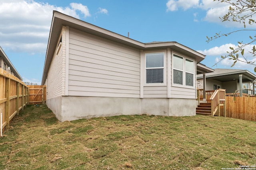
M 60 123 L 46 105 L 28 106 L 0 137 L 1 170 L 241 165 L 256 165 L 256 122 L 225 117 L 121 115 Z

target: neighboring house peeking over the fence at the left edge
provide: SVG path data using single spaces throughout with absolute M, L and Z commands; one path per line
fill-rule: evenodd
M 6 70 L 8 73 L 16 76 L 18 79 L 22 80 L 20 74 L 12 65 L 11 61 L 8 59 L 4 50 L 0 47 L 0 68 Z

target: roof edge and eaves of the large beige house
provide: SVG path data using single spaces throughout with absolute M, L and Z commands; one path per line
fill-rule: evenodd
M 120 34 L 112 32 L 112 31 L 108 31 L 106 29 L 97 27 L 96 25 L 92 25 L 90 23 L 78 20 L 76 18 L 62 14 L 60 12 L 53 11 L 52 25 L 50 28 L 48 47 L 47 47 L 47 51 L 46 51 L 46 59 L 45 59 L 45 63 L 44 63 L 44 72 L 43 72 L 43 76 L 42 76 L 42 84 L 44 83 L 44 81 L 46 79 L 46 76 L 47 76 L 47 73 L 48 73 L 48 70 L 50 67 L 50 63 L 52 61 L 52 57 L 54 56 L 54 50 L 56 48 L 56 45 L 58 45 L 58 38 L 59 38 L 60 32 L 62 30 L 62 26 L 72 27 L 74 29 L 84 31 L 84 32 L 90 33 L 92 35 L 97 35 L 97 36 L 109 39 L 111 41 L 122 43 L 124 45 L 128 45 L 130 47 L 134 47 L 134 48 L 140 49 L 140 50 L 146 50 L 146 49 L 154 50 L 154 49 L 170 48 L 174 51 L 183 53 L 184 55 L 187 55 L 188 57 L 192 57 L 192 58 L 196 59 L 197 63 L 199 63 L 200 61 L 202 61 L 205 58 L 205 55 L 198 53 L 197 51 L 194 51 L 193 49 L 190 49 L 190 48 L 188 48 L 184 45 L 181 45 L 175 41 L 141 43 L 139 41 L 125 37 L 123 35 L 120 35 Z

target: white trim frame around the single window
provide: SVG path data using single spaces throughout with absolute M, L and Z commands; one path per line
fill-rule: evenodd
M 154 54 L 154 53 L 164 53 L 164 67 L 159 67 L 159 68 L 164 68 L 164 79 L 163 79 L 163 83 L 146 83 L 146 69 L 150 69 L 150 68 L 146 68 L 146 54 Z M 167 61 L 167 51 L 166 50 L 158 50 L 158 51 L 144 51 L 144 86 L 167 86 L 167 68 L 166 68 L 166 61 Z M 155 69 L 158 67 L 154 67 Z

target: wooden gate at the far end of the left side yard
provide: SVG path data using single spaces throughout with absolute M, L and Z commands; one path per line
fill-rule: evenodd
M 46 86 L 29 85 L 29 104 L 45 104 Z

